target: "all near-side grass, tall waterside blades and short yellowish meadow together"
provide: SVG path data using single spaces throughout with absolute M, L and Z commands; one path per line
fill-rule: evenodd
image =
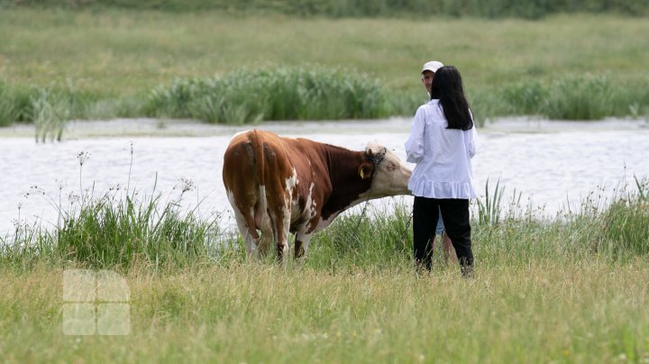
M 506 211 L 489 197 L 489 211 L 479 209 L 473 221 L 472 279 L 439 253 L 430 275 L 413 272 L 404 205 L 361 223 L 343 215 L 315 235 L 302 264 L 278 265 L 245 261 L 236 236 L 222 236 L 215 250 L 210 221 L 176 214 L 176 198 L 128 188 L 123 200 L 80 198 L 54 232 L 23 227 L 22 240 L 4 245 L 3 359 L 649 359 L 647 180 L 611 204 L 593 198 L 556 219 Z M 114 269 L 125 278 L 127 336 L 61 334 L 67 268 Z

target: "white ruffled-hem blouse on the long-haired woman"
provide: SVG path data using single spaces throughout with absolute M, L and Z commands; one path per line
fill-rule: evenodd
M 421 197 L 475 198 L 471 167 L 478 145 L 475 123 L 468 131 L 446 129 L 447 125 L 439 100 L 417 109 L 406 141 L 407 161 L 416 163 L 408 189 Z

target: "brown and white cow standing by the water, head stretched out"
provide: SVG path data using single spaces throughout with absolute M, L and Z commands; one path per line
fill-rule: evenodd
M 409 195 L 410 175 L 376 143 L 354 151 L 256 129 L 234 135 L 223 168 L 249 258 L 255 250 L 267 254 L 272 241 L 279 259 L 286 257 L 288 232 L 296 235 L 295 258 L 302 257 L 313 233 L 344 210 L 368 199 Z

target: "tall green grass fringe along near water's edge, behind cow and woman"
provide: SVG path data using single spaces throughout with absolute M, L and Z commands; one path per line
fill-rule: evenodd
M 503 187 L 493 192 L 487 188 L 489 196 L 483 198 L 490 201 L 478 201 L 479 211 L 471 223 L 478 267 L 559 257 L 609 262 L 646 257 L 649 205 L 643 196 L 649 191 L 648 183 L 638 181 L 636 191 L 620 193 L 609 202 L 587 198 L 577 211 L 554 219 L 536 214 L 531 206 L 516 210 L 512 208 L 516 201 L 506 208 L 498 197 Z M 54 232 L 40 224 L 18 225 L 14 236 L 5 237 L 0 260 L 15 267 L 29 267 L 35 261 L 55 266 L 74 261 L 99 268 L 133 264 L 183 268 L 245 260 L 241 237 L 219 230 L 219 214 L 204 220 L 193 210 L 180 211 L 178 198 L 164 200 L 158 194 L 137 200 L 113 191 L 81 201 L 61 212 Z M 315 234 L 303 264 L 326 271 L 408 269 L 410 215 L 400 204 L 389 214 L 343 214 Z M 442 254 L 436 258 L 437 268 L 445 267 L 441 258 Z

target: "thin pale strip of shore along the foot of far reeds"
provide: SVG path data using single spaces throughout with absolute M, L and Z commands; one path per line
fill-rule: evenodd
M 345 133 L 376 132 L 409 132 L 410 117 L 393 117 L 389 119 L 340 120 L 340 121 L 281 121 L 261 122 L 257 124 L 224 125 L 203 123 L 185 119 L 113 119 L 113 120 L 74 120 L 66 125 L 63 141 L 95 138 L 123 137 L 211 137 L 233 135 L 235 132 L 260 128 L 279 134 L 314 134 L 337 133 L 344 127 Z M 609 118 L 597 121 L 561 121 L 546 120 L 532 116 L 504 117 L 488 121 L 480 132 L 494 133 L 551 133 L 551 132 L 608 132 L 623 130 L 649 130 L 649 122 L 644 119 Z M 0 127 L 0 138 L 35 138 L 33 124 L 15 123 L 12 126 Z

